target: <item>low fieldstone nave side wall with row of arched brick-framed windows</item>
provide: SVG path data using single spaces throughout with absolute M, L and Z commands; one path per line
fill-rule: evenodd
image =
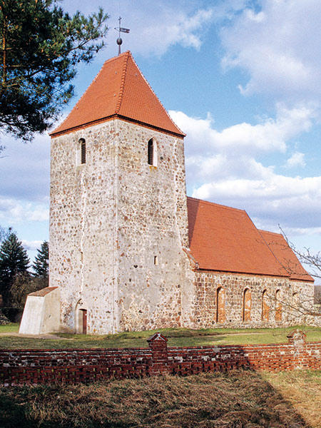
M 197 270 L 194 284 L 194 328 L 300 325 L 313 295 L 313 284 L 259 275 Z

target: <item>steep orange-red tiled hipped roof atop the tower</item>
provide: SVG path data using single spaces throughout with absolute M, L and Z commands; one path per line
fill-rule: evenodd
M 165 111 L 130 51 L 103 64 L 76 106 L 51 136 L 116 117 L 185 136 Z

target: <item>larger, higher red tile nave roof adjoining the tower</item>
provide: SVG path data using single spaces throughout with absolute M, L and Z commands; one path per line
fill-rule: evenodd
M 188 232 L 190 253 L 202 270 L 290 276 L 244 210 L 188 198 Z M 284 255 L 292 260 L 289 247 Z

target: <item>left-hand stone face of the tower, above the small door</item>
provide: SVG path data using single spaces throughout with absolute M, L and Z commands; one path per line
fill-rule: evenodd
M 51 143 L 50 282 L 61 292 L 61 326 L 73 332 L 77 306 L 88 310 L 88 332 L 115 331 L 117 146 L 113 121 Z

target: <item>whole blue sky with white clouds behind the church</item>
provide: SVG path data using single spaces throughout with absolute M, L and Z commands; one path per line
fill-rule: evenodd
M 74 106 L 122 49 L 185 137 L 188 195 L 244 209 L 258 228 L 321 250 L 320 0 L 63 0 L 108 13 L 106 48 L 73 81 Z M 0 225 L 31 258 L 49 239 L 50 138 L 1 134 Z

